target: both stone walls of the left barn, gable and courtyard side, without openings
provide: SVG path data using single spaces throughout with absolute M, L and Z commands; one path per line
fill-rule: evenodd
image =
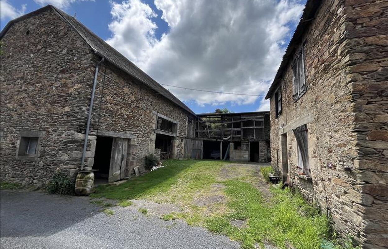
M 28 32 L 27 32 L 28 31 Z M 18 21 L 2 37 L 2 181 L 45 185 L 81 163 L 95 65 L 100 60 L 52 9 Z M 99 131 L 131 134 L 127 173 L 154 153 L 156 115 L 177 121 L 174 157 L 183 157 L 194 116 L 105 61 L 100 65 L 85 162 L 92 166 Z M 18 156 L 21 136 L 39 137 L 36 156 Z

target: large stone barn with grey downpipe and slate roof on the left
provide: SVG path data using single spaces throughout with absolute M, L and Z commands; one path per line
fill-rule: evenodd
M 81 168 L 112 182 L 149 153 L 184 157 L 196 115 L 75 18 L 48 5 L 10 21 L 1 42 L 2 181 L 45 185 Z

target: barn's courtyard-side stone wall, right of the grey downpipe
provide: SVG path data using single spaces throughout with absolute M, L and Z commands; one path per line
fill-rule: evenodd
M 95 58 L 97 63 L 98 58 Z M 188 118 L 194 115 L 184 111 L 160 94 L 137 82 L 110 63 L 104 63 L 98 74 L 95 107 L 91 120 L 91 134 L 113 131 L 133 134 L 127 171 L 143 164 L 144 156 L 155 153 L 155 128 L 158 113 L 177 122 L 177 136 L 173 139 L 173 158 L 184 157 L 184 138 Z

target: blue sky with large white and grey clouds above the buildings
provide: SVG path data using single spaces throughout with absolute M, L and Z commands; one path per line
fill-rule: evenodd
M 1 29 L 47 4 L 76 18 L 194 112 L 263 100 L 306 0 L 0 0 Z

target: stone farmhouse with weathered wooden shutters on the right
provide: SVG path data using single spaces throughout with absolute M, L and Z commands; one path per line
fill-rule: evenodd
M 363 248 L 388 246 L 388 2 L 308 0 L 266 99 L 272 167 Z

